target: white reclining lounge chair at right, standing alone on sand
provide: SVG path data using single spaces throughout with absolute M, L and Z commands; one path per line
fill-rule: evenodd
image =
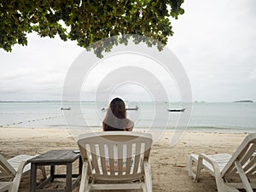
M 231 154 L 189 154 L 187 163 L 189 176 L 197 182 L 204 168 L 215 177 L 218 192 L 256 189 L 256 133 L 249 134 Z M 192 164 L 196 163 L 196 172 Z

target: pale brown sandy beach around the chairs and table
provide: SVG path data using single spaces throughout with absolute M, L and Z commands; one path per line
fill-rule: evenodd
M 214 177 L 202 172 L 199 183 L 188 176 L 186 154 L 234 153 L 247 133 L 187 132 L 174 147 L 170 146 L 172 132 L 166 132 L 151 150 L 154 191 L 213 192 L 217 191 Z M 7 159 L 17 154 L 42 154 L 51 149 L 77 149 L 73 135 L 66 129 L 0 128 L 0 153 Z M 61 172 L 57 170 L 57 172 Z M 61 188 L 56 181 L 50 187 Z M 29 191 L 30 177 L 23 177 L 20 192 Z M 79 186 L 73 191 L 79 191 Z

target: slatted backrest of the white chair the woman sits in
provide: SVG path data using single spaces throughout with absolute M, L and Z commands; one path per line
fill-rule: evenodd
M 82 159 L 91 161 L 90 172 L 117 179 L 142 172 L 143 159 L 149 157 L 152 136 L 128 131 L 88 133 L 79 136 L 78 144 Z M 86 148 L 87 145 L 90 148 Z

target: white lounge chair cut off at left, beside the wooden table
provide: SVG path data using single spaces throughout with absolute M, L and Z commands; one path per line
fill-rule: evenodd
M 30 171 L 30 164 L 27 160 L 32 159 L 31 155 L 20 154 L 9 160 L 6 160 L 0 154 L 0 179 L 8 180 L 8 182 L 0 182 L 0 192 L 11 191 L 17 192 L 20 185 L 20 179 Z M 40 167 L 43 176 L 46 177 L 44 167 Z

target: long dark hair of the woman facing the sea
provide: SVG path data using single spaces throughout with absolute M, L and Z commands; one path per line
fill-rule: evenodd
M 120 98 L 114 98 L 110 102 L 108 112 L 102 122 L 103 131 L 124 131 L 125 119 L 125 102 Z

